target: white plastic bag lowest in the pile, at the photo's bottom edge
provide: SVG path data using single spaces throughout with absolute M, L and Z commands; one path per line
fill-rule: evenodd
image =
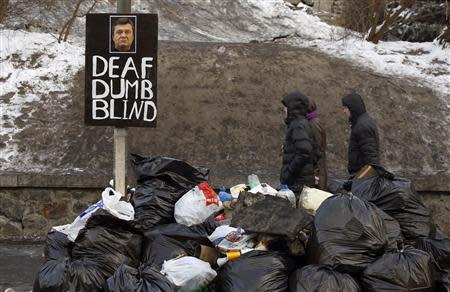
M 178 291 L 206 287 L 217 276 L 209 263 L 189 256 L 164 261 L 161 274 L 179 287 Z

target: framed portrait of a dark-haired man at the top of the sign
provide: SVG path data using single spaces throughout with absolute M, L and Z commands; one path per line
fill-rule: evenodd
M 110 53 L 136 52 L 136 17 L 111 17 L 111 45 Z

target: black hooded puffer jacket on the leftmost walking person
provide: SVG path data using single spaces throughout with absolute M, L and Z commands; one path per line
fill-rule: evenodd
M 280 182 L 289 187 L 305 184 L 313 187 L 314 165 L 320 158 L 320 151 L 306 119 L 308 97 L 296 91 L 286 95 L 282 103 L 288 114 Z

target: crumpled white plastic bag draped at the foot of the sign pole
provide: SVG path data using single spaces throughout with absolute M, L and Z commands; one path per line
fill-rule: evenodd
M 75 241 L 80 230 L 86 225 L 87 220 L 98 209 L 105 209 L 113 216 L 122 220 L 133 220 L 133 205 L 128 202 L 120 201 L 121 197 L 121 193 L 114 191 L 112 188 L 106 188 L 102 193 L 102 199 L 81 212 L 72 224 L 55 226 L 53 229 L 67 234 L 67 238 L 70 241 Z

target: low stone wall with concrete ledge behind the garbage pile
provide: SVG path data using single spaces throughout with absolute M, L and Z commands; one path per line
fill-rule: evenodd
M 52 226 L 71 223 L 100 200 L 108 180 L 106 176 L 1 175 L 0 240 L 45 239 Z M 433 187 L 427 178 L 417 178 L 415 186 L 435 223 L 450 234 L 450 193 L 440 191 L 442 184 Z

